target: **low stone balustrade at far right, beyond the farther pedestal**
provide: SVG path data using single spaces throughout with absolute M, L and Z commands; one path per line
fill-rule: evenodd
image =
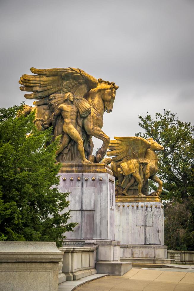
M 175 260 L 176 264 L 194 264 L 194 252 L 167 251 L 168 259 Z

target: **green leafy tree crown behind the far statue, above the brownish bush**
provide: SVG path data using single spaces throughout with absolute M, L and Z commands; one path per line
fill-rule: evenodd
M 158 176 L 163 180 L 162 198 L 174 195 L 180 201 L 194 196 L 194 126 L 182 122 L 171 111 L 156 113 L 155 120 L 149 114 L 139 116 L 139 125 L 145 129 L 137 136 L 152 137 L 163 145 L 164 151 L 158 153 Z

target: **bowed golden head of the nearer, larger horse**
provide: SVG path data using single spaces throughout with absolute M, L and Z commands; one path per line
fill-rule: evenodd
M 104 102 L 104 112 L 110 113 L 112 111 L 113 103 L 115 101 L 116 90 L 119 88 L 113 82 L 103 81 L 98 79 L 97 88 L 101 91 L 101 99 Z

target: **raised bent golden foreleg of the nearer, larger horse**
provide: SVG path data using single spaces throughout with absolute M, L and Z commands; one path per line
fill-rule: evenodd
M 99 148 L 99 150 L 96 152 L 96 162 L 99 163 L 106 154 L 106 150 L 110 143 L 110 137 L 108 137 L 108 135 L 106 135 L 98 125 L 94 126 L 93 128 L 85 128 L 85 131 L 88 135 L 93 135 L 94 137 L 103 141 L 101 148 Z

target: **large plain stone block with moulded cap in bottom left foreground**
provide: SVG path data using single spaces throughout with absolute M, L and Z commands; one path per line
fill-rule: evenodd
M 0 290 L 58 290 L 59 262 L 55 242 L 0 242 Z

